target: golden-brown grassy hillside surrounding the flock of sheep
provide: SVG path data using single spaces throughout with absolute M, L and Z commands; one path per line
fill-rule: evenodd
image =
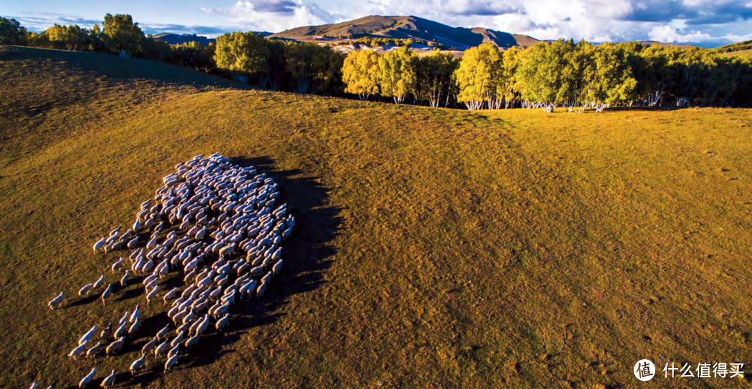
M 752 386 L 749 110 L 429 109 L 18 47 L 0 85 L 0 387 Z M 216 151 L 280 183 L 290 266 L 166 375 L 123 373 L 159 304 L 125 356 L 65 357 L 145 303 L 73 296 L 116 280 L 92 243 Z M 747 377 L 638 385 L 641 358 Z

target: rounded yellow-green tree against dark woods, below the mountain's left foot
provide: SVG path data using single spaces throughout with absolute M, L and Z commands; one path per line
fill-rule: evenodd
M 214 62 L 236 80 L 259 80 L 270 56 L 267 41 L 255 32 L 233 32 L 217 37 Z

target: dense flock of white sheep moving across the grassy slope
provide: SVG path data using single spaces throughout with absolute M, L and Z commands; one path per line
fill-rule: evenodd
M 181 354 L 199 342 L 212 321 L 219 331 L 228 324 L 233 303 L 246 296 L 262 297 L 282 267 L 280 243 L 295 225 L 286 204 L 275 207 L 277 184 L 265 174 L 256 174 L 253 167 L 239 167 L 214 154 L 196 155 L 177 164 L 175 170 L 164 177 L 154 200 L 141 204 L 131 229 L 121 234 L 116 228 L 93 246 L 95 253 L 132 249 L 127 258 L 111 265 L 113 274 L 123 272 L 116 276 L 117 284 L 124 288 L 135 276 L 144 276 L 146 304 L 157 298 L 171 304 L 167 315 L 172 323 L 141 348 L 141 357 L 130 365 L 133 375 L 144 368 L 147 354 L 155 360 L 165 354 L 165 372 L 171 369 Z M 146 235 L 147 239 L 141 238 Z M 183 273 L 185 288 L 165 289 L 165 284 L 174 283 L 174 278 L 166 278 L 171 270 Z M 101 276 L 83 285 L 78 294 L 101 293 L 106 304 L 115 293 L 114 283 L 105 286 L 105 276 Z M 60 292 L 47 306 L 61 306 L 64 296 Z M 138 333 L 140 323 L 141 310 L 136 305 L 117 323 L 108 324 L 96 345 L 89 342 L 99 327 L 91 327 L 68 356 L 117 354 Z M 85 387 L 94 379 L 96 368 L 78 385 Z M 111 387 L 114 381 L 113 370 L 101 386 Z

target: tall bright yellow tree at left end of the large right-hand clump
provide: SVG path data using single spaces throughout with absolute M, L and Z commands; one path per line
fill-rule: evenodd
M 465 103 L 468 110 L 480 110 L 486 101 L 490 109 L 499 108 L 496 92 L 502 61 L 502 54 L 495 44 L 481 44 L 465 50 L 459 68 L 454 71 L 454 80 L 459 87 L 457 101 Z

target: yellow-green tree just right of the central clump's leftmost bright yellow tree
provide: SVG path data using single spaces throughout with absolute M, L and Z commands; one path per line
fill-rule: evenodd
M 400 104 L 416 90 L 417 56 L 409 47 L 403 46 L 381 56 L 378 61 L 381 95 Z

